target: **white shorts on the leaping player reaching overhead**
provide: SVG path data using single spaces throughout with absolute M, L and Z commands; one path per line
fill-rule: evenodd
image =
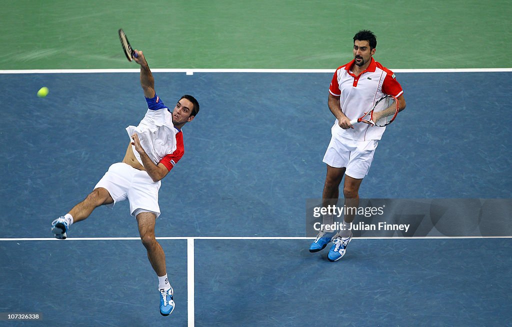
M 140 212 L 153 212 L 157 218 L 160 215 L 158 206 L 158 190 L 161 182 L 153 182 L 144 170 L 118 162 L 109 167 L 109 171 L 94 187 L 103 187 L 109 191 L 114 203 L 108 205 L 112 208 L 117 202 L 130 201 L 130 213 L 133 216 Z

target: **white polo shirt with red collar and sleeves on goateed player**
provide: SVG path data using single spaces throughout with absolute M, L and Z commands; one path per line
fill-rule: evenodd
M 356 119 L 368 112 L 381 97 L 390 94 L 399 97 L 402 86 L 395 79 L 392 71 L 383 67 L 371 58 L 370 65 L 359 76 L 350 71 L 355 60 L 338 67 L 332 77 L 329 92 L 339 97 L 342 112 L 350 120 Z M 356 141 L 380 140 L 386 127 L 371 126 L 356 123 L 354 128 L 339 127 L 338 120 L 332 126 L 332 136 Z

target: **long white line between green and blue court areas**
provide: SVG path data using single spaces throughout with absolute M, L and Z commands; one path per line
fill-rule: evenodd
M 152 68 L 153 73 L 333 73 L 332 69 L 228 69 L 228 68 Z M 391 69 L 395 73 L 490 73 L 512 72 L 512 68 L 447 68 L 447 69 Z M 139 69 L 19 69 L 0 70 L 0 74 L 84 74 L 84 73 L 138 73 Z

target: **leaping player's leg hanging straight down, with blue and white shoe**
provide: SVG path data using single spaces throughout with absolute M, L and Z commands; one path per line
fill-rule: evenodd
M 173 300 L 173 288 L 166 278 L 165 253 L 155 238 L 156 214 L 153 212 L 140 212 L 137 214 L 137 223 L 139 225 L 139 234 L 142 244 L 146 248 L 147 258 L 150 260 L 153 270 L 159 276 L 159 279 L 165 276 L 165 280 L 160 282 L 160 314 L 162 316 L 170 315 L 175 303 Z

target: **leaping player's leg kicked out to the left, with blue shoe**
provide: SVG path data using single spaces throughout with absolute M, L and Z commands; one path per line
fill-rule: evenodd
M 74 206 L 68 214 L 60 216 L 52 222 L 53 235 L 55 238 L 66 239 L 68 229 L 73 223 L 86 219 L 100 205 L 113 202 L 109 191 L 101 187 L 94 189 L 87 195 L 86 199 Z

